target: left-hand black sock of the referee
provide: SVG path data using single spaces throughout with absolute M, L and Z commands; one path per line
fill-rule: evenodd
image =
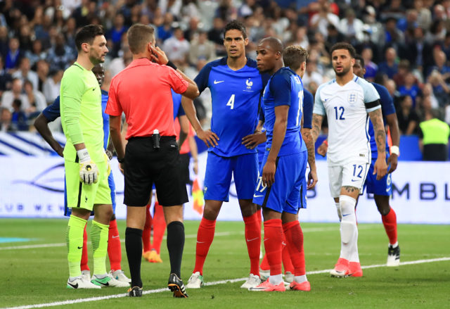
M 131 287 L 139 286 L 141 288 L 142 229 L 134 229 L 132 227 L 125 229 L 125 248 L 131 275 Z

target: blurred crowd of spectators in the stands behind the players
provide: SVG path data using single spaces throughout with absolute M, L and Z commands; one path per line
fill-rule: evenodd
M 0 130 L 29 130 L 59 94 L 75 61 L 75 33 L 101 24 L 109 80 L 131 62 L 127 29 L 153 25 L 157 44 L 189 77 L 224 56 L 223 29 L 243 20 L 255 58 L 274 36 L 309 51 L 303 82 L 312 94 L 333 77 L 330 47 L 347 41 L 366 63 L 366 79 L 394 98 L 401 134 L 417 134 L 427 115 L 450 123 L 450 0 L 3 0 L 0 1 Z M 209 125 L 210 95 L 195 101 Z

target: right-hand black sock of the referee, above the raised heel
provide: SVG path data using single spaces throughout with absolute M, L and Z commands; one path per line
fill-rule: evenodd
M 173 221 L 167 225 L 167 250 L 169 251 L 170 273 L 181 279 L 181 258 L 184 249 L 183 222 Z

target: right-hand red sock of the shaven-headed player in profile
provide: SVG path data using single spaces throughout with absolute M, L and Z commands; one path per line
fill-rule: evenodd
M 290 259 L 294 265 L 294 275 L 305 275 L 303 232 L 300 227 L 300 222 L 293 221 L 285 223 L 283 225 L 283 230 L 286 237 L 286 243 L 288 244 Z

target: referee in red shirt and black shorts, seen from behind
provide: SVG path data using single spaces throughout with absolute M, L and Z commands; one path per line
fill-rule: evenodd
M 168 287 L 174 297 L 186 298 L 180 269 L 184 248 L 182 204 L 188 201 L 188 194 L 179 172 L 170 89 L 190 99 L 199 92 L 195 82 L 176 70 L 173 63 L 167 61 L 165 52 L 155 47 L 154 31 L 153 27 L 139 24 L 129 28 L 127 37 L 133 61 L 113 77 L 106 113 L 110 115 L 111 138 L 125 177 L 125 248 L 131 273 L 129 296 L 142 296 L 142 230 L 154 183 L 167 222 L 171 267 Z M 122 112 L 128 123 L 126 150 L 120 136 Z

